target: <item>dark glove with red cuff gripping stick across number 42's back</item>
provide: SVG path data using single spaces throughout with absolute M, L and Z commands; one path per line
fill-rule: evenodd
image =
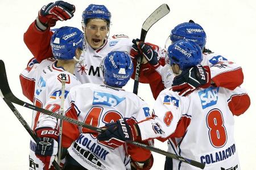
M 136 133 L 134 129 L 135 120 L 130 119 L 119 119 L 116 122 L 106 124 L 106 130 L 104 133 L 98 135 L 99 141 L 105 141 L 109 144 L 116 146 L 122 146 L 125 141 L 135 141 Z

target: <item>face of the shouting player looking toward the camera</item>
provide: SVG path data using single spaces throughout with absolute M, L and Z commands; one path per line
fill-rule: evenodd
M 104 44 L 108 32 L 108 23 L 102 19 L 91 19 L 84 28 L 85 39 L 93 49 Z

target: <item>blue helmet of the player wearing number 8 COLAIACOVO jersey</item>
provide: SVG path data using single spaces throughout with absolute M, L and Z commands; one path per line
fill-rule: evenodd
M 180 66 L 180 70 L 185 70 L 202 61 L 202 51 L 193 41 L 179 40 L 168 47 L 168 57 L 171 65 L 176 63 Z

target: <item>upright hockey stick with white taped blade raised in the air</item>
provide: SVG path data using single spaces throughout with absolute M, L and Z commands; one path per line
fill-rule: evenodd
M 148 18 L 144 21 L 141 29 L 141 41 L 145 41 L 146 35 L 148 30 L 154 25 L 156 22 L 158 22 L 159 19 L 163 18 L 170 12 L 170 8 L 167 4 L 163 4 L 159 6 Z M 141 71 L 141 61 L 142 56 L 139 56 L 137 58 L 137 64 L 136 64 L 136 71 L 134 76 L 134 86 L 133 86 L 133 93 L 138 94 L 138 88 L 139 88 L 139 74 Z

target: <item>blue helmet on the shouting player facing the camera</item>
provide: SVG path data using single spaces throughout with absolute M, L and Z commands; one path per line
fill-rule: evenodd
M 82 12 L 82 24 L 86 24 L 88 19 L 91 18 L 103 19 L 110 23 L 111 13 L 104 5 L 90 4 L 84 12 Z

